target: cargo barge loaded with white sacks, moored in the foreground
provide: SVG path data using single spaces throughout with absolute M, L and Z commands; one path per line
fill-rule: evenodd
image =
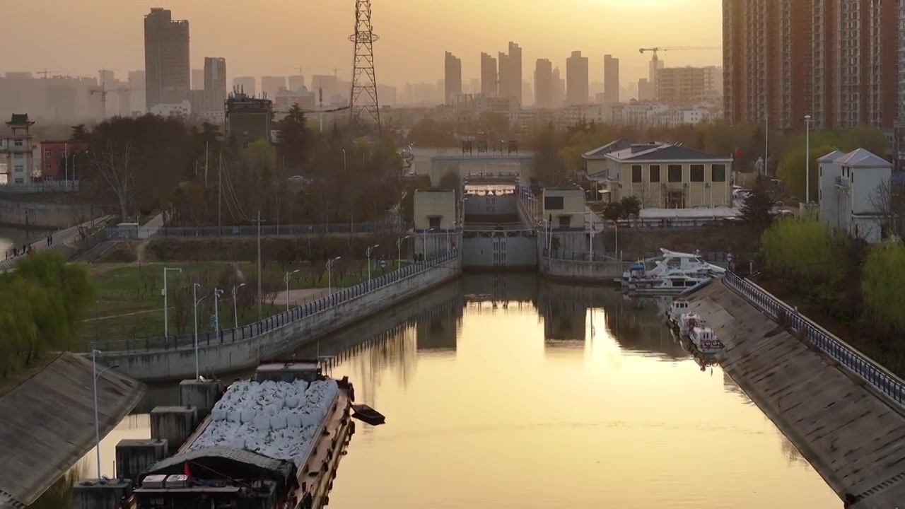
M 355 433 L 355 389 L 317 360 L 273 360 L 226 389 L 174 456 L 132 492 L 137 509 L 319 509 Z

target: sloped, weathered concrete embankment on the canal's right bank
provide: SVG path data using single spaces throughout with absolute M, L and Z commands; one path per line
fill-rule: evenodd
M 852 508 L 905 500 L 905 417 L 754 306 L 714 281 L 691 309 L 726 349 L 719 363 Z

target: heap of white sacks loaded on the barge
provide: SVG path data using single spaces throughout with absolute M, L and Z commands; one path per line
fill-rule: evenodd
M 300 466 L 338 390 L 332 379 L 235 382 L 214 405 L 212 422 L 189 450 L 243 448 Z

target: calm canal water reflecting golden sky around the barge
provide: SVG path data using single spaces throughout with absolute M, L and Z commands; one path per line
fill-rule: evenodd
M 663 301 L 467 276 L 407 307 L 298 352 L 336 355 L 333 375 L 387 416 L 359 424 L 330 507 L 841 505 L 719 367 L 673 341 Z M 177 399 L 148 392 L 103 440 L 105 474 L 120 439 L 148 437 L 144 412 Z

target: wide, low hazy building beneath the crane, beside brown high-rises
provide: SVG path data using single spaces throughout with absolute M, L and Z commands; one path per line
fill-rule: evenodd
M 664 67 L 654 83 L 657 101 L 677 106 L 691 106 L 701 101 L 719 101 L 722 91 L 722 69 L 708 67 Z

